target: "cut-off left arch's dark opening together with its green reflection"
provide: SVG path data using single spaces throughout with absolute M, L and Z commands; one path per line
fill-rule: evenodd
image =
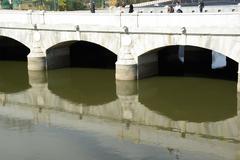
M 0 92 L 16 93 L 30 88 L 26 62 L 29 52 L 22 43 L 0 36 Z

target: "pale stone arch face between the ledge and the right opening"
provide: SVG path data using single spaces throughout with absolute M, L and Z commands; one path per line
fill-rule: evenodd
M 143 54 L 150 53 L 153 50 L 158 48 L 163 48 L 167 46 L 194 46 L 205 48 L 209 50 L 216 51 L 218 53 L 223 54 L 226 57 L 231 58 L 232 60 L 239 62 L 240 53 L 240 41 L 239 38 L 236 36 L 199 36 L 199 35 L 160 35 L 160 36 L 150 36 L 145 37 L 147 39 L 151 39 L 154 43 L 148 44 L 141 44 L 141 42 L 137 42 L 137 46 L 143 46 L 142 48 L 134 51 L 137 51 L 137 56 L 141 56 Z M 146 41 L 143 41 L 146 43 Z

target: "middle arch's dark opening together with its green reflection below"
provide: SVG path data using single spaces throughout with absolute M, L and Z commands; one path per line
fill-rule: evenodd
M 52 61 L 49 63 L 53 64 L 50 69 L 62 68 L 48 71 L 52 93 L 84 105 L 101 105 L 116 99 L 114 53 L 86 41 L 61 43 L 47 52 Z

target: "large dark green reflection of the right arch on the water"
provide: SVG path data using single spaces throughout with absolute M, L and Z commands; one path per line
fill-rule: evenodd
M 196 77 L 139 81 L 139 102 L 173 120 L 215 122 L 237 115 L 236 82 Z

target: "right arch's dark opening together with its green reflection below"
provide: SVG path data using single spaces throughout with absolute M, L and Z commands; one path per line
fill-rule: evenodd
M 225 57 L 225 66 L 213 68 L 215 52 L 185 46 L 183 56 L 179 48 L 167 46 L 140 56 L 143 77 L 158 75 L 139 81 L 140 102 L 173 120 L 209 122 L 235 116 L 238 63 Z

